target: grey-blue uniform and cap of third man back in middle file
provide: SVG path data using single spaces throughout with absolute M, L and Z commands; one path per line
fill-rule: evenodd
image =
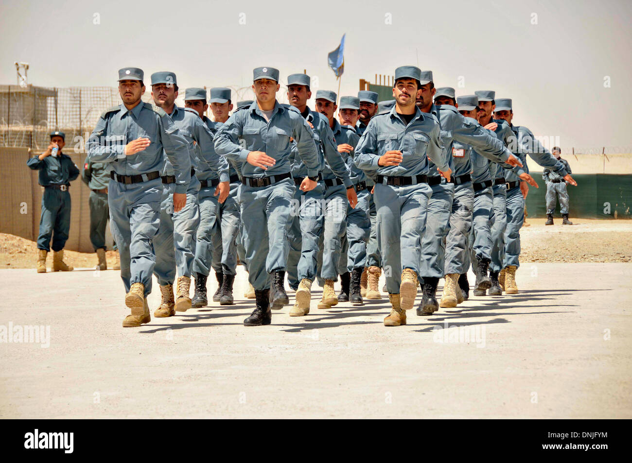
M 336 92 L 319 90 L 316 99 L 324 99 L 336 104 Z M 347 208 L 349 200 L 346 190 L 353 188 L 349 169 L 344 163 L 343 156 L 338 152 L 334 141 L 334 131 L 340 126 L 334 118 L 334 130 L 329 127 L 329 119 L 325 118 L 325 125 L 320 131 L 321 148 L 324 152 L 325 165 L 322 169 L 322 180 L 325 193 L 325 210 L 323 211 L 324 225 L 319 240 L 319 254 L 317 258 L 318 272 L 322 280 L 338 279 L 338 261 L 342 248 L 341 240 L 347 227 Z M 322 265 L 321 265 L 322 262 Z M 324 282 L 319 282 L 320 285 Z

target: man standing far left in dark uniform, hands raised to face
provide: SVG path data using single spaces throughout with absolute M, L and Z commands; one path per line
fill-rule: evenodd
M 70 230 L 70 182 L 79 176 L 79 169 L 61 150 L 66 134 L 51 133 L 46 151 L 27 161 L 28 167 L 39 171 L 39 184 L 44 187 L 39 235 L 37 236 L 37 273 L 46 273 L 46 256 L 51 250 L 52 271 L 66 272 L 73 267 L 64 262 L 64 246 Z

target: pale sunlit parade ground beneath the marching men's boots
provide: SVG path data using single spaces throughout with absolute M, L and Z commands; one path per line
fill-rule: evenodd
M 152 321 L 122 328 L 119 272 L 0 270 L 0 418 L 632 418 L 630 275 L 523 263 L 520 294 L 402 327 L 384 295 L 319 310 L 314 284 L 309 315 L 244 327 L 239 267 L 235 305 L 154 318 L 154 280 Z

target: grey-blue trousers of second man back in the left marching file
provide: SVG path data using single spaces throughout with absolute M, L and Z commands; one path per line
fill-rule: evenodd
M 185 207 L 173 212 L 173 190 L 166 186 L 162 193 L 160 227 L 154 238 L 154 274 L 161 286 L 174 283 L 176 268 L 179 276 L 191 277 L 200 225 L 198 193 L 187 192 Z

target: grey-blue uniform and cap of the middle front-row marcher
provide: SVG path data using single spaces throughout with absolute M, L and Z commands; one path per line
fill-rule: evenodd
M 253 81 L 262 78 L 278 82 L 279 71 L 269 67 L 254 69 Z M 316 177 L 320 163 L 310 126 L 298 112 L 278 102 L 269 117 L 259 109 L 257 102 L 234 112 L 215 136 L 216 152 L 241 163 L 243 177 L 238 201 L 241 203 L 248 280 L 255 291 L 269 289 L 270 273 L 286 270 L 287 233 L 295 193 L 290 172 L 290 138 L 296 140 L 308 176 Z M 240 143 L 240 140 L 243 141 Z M 276 160 L 276 164 L 267 170 L 249 164 L 246 159 L 252 151 L 265 152 Z

